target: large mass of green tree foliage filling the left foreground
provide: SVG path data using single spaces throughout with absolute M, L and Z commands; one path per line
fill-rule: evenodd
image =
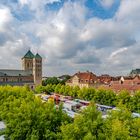
M 55 140 L 60 126 L 70 121 L 61 107 L 42 103 L 25 87 L 0 87 L 0 117 L 11 140 Z

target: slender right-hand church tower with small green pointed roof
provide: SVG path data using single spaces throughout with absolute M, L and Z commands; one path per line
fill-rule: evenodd
M 33 58 L 33 75 L 35 85 L 42 84 L 42 57 L 37 53 Z

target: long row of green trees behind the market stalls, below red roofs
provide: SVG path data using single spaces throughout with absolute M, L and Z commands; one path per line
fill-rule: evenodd
M 130 96 L 128 91 L 121 91 L 118 95 L 116 95 L 116 93 L 112 90 L 105 90 L 102 88 L 95 89 L 84 87 L 80 89 L 78 86 L 70 87 L 68 85 L 50 84 L 47 86 L 38 86 L 36 88 L 36 92 L 55 92 L 83 100 L 94 100 L 95 103 L 109 106 L 117 106 L 121 102 L 126 105 L 130 111 L 140 113 L 140 91 L 135 92 L 133 96 Z

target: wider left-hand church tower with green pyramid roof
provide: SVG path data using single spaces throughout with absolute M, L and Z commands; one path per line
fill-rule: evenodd
M 33 53 L 29 50 L 22 58 L 22 69 L 33 71 Z

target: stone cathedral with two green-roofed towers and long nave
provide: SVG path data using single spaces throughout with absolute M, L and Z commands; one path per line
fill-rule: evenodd
M 21 60 L 22 70 L 0 69 L 0 85 L 34 88 L 42 84 L 42 57 L 29 50 Z

